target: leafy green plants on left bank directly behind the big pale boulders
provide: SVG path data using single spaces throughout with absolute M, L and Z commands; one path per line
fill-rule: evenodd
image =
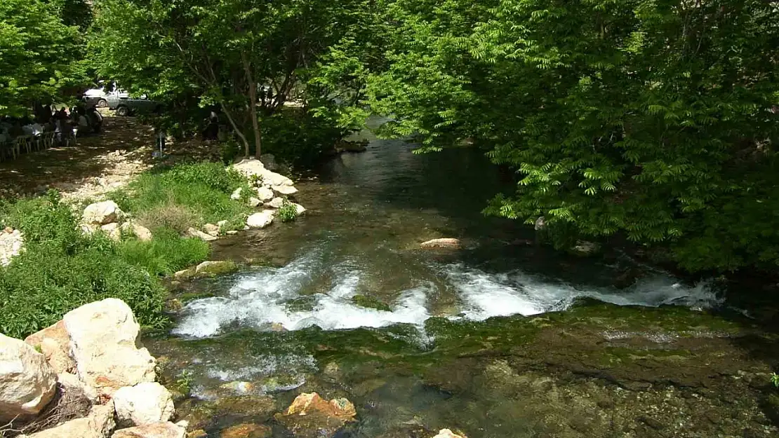
M 145 327 L 160 328 L 167 291 L 120 244 L 83 236 L 72 209 L 55 192 L 0 205 L 0 224 L 22 230 L 25 251 L 0 268 L 0 332 L 14 338 L 46 328 L 69 310 L 114 297 Z

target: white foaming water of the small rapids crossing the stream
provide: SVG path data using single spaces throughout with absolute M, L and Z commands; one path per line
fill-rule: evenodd
M 422 326 L 431 316 L 428 297 L 439 294 L 431 283 L 402 291 L 390 311 L 360 307 L 351 298 L 360 292 L 363 273 L 356 264 L 344 262 L 328 268 L 336 279 L 328 292 L 306 295 L 305 287 L 312 282 L 312 275 L 321 274 L 324 265 L 322 255 L 313 252 L 284 268 L 241 275 L 227 296 L 195 300 L 185 306 L 184 317 L 173 333 L 203 338 L 219 335 L 234 324 L 260 330 L 270 329 L 271 324 L 280 324 L 287 330 L 314 325 L 324 330 L 379 328 L 400 323 Z M 491 273 L 463 264 L 433 270 L 456 289 L 458 306 L 453 314 L 445 316 L 474 321 L 565 310 L 580 297 L 623 306 L 674 304 L 708 308 L 719 303 L 705 283 L 687 287 L 660 274 L 618 290 L 573 286 L 520 270 Z M 291 305 L 291 301 L 301 299 L 307 300 L 310 309 Z

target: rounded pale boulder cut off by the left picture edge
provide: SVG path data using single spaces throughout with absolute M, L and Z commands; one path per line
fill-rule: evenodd
M 0 423 L 41 412 L 57 390 L 46 357 L 23 341 L 0 334 Z

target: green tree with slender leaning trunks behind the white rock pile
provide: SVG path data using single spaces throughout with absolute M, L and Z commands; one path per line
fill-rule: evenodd
M 218 105 L 245 154 L 253 144 L 259 155 L 263 117 L 309 91 L 306 72 L 360 27 L 365 13 L 354 11 L 367 7 L 365 0 L 100 0 L 91 47 L 101 72 L 122 86 Z

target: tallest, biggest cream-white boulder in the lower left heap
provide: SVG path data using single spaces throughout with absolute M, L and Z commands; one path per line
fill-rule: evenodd
M 89 303 L 71 310 L 62 321 L 79 379 L 99 394 L 154 381 L 156 362 L 149 350 L 138 348 L 140 326 L 124 301 Z

